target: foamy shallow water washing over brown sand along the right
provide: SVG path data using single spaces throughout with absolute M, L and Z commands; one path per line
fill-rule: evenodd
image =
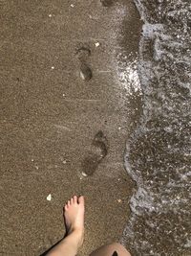
M 191 4 L 135 2 L 143 106 L 127 142 L 137 188 L 121 242 L 134 255 L 191 255 Z

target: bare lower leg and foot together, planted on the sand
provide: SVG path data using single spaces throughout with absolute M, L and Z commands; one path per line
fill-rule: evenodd
M 67 236 L 47 254 L 48 256 L 75 256 L 83 244 L 84 198 L 71 198 L 64 206 Z

